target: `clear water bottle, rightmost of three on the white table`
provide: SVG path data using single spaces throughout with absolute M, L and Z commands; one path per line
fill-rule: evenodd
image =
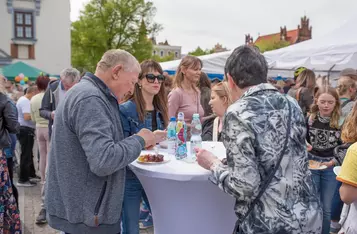
M 200 121 L 199 114 L 193 114 L 192 122 L 191 122 L 191 153 L 187 157 L 188 162 L 196 161 L 196 152 L 195 148 L 202 148 L 202 124 Z

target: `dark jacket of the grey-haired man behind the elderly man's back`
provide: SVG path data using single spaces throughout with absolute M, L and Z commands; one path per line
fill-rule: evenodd
M 58 89 L 59 84 L 60 84 L 59 80 L 51 81 L 48 84 L 47 90 L 43 95 L 41 108 L 40 108 L 40 116 L 49 121 L 48 132 L 50 137 L 51 137 L 52 125 L 53 125 L 53 119 L 51 117 L 51 113 L 52 111 L 56 110 L 56 103 L 57 103 L 54 92 Z

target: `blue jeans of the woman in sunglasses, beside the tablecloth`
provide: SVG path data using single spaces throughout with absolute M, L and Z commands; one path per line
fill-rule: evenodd
M 122 234 L 139 234 L 140 202 L 150 205 L 138 177 L 130 169 L 126 171 L 125 192 L 122 214 Z

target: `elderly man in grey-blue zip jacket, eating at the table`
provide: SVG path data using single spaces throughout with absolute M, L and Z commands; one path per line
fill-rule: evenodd
M 116 234 L 125 167 L 155 145 L 143 129 L 124 139 L 118 100 L 133 90 L 140 66 L 123 50 L 106 52 L 56 109 L 46 183 L 51 227 L 71 234 Z

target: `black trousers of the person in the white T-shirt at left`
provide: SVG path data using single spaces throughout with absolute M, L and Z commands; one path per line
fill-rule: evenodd
M 29 181 L 30 177 L 36 176 L 35 166 L 33 164 L 33 144 L 34 144 L 35 129 L 21 126 L 20 133 L 17 139 L 21 145 L 20 156 L 20 178 L 19 182 Z

